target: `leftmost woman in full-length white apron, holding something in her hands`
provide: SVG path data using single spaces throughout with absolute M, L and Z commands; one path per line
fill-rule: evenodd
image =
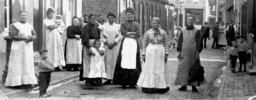
M 13 39 L 9 68 L 5 81 L 5 86 L 31 86 L 37 84 L 34 70 L 34 51 L 33 41 L 35 38 L 28 36 L 36 36 L 34 27 L 26 22 L 27 12 L 22 10 L 19 12 L 20 22 L 11 25 L 11 37 Z

